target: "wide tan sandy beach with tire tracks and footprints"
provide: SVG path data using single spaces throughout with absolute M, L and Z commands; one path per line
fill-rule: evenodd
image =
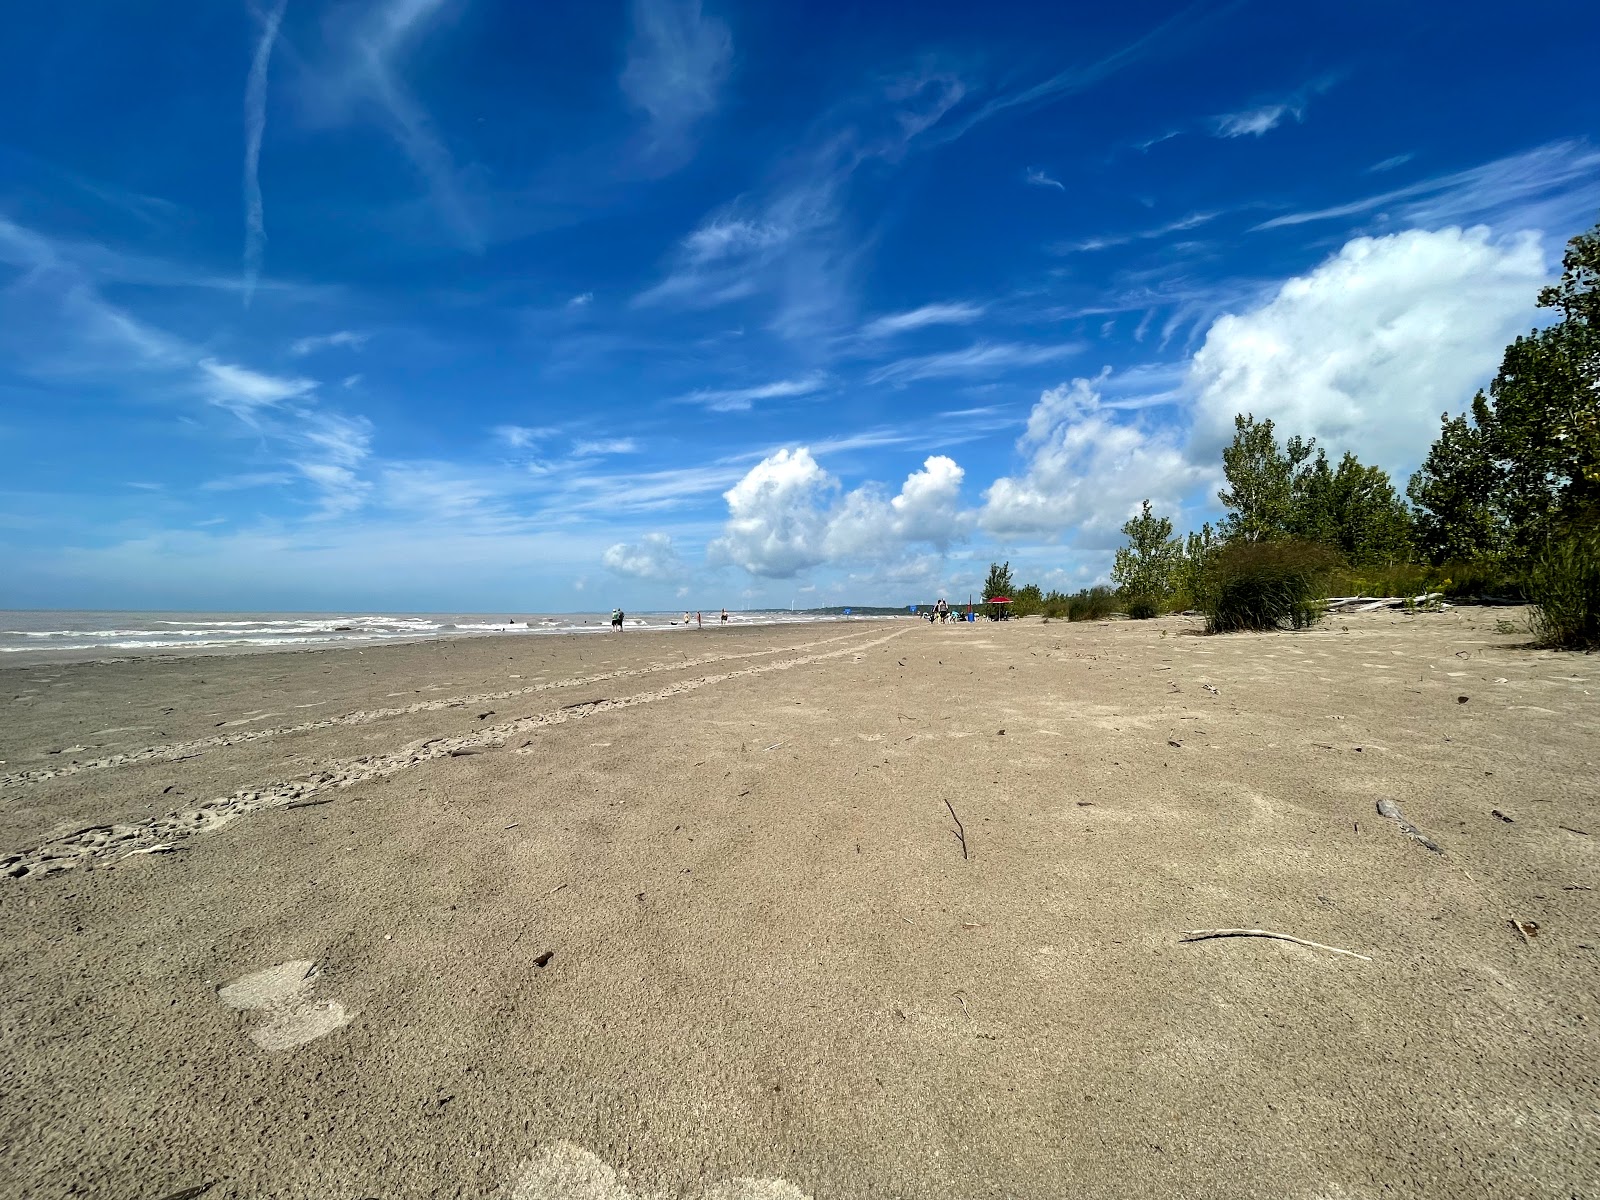
M 0 1195 L 1592 1195 L 1600 666 L 1506 618 L 0 669 Z

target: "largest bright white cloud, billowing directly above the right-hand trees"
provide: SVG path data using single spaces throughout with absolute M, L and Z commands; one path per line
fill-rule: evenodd
M 1411 467 L 1533 320 L 1534 234 L 1411 230 L 1355 238 L 1256 309 L 1218 318 L 1194 357 L 1195 453 L 1235 413 L 1272 418 L 1389 470 Z

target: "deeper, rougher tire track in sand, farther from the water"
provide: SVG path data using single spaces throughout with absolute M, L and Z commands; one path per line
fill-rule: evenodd
M 37 878 L 42 875 L 51 875 L 58 870 L 67 870 L 70 867 L 94 862 L 98 859 L 178 850 L 179 846 L 176 843 L 184 838 L 221 829 L 246 813 L 304 803 L 320 792 L 334 789 L 342 790 L 373 779 L 382 779 L 410 770 L 411 766 L 418 766 L 419 763 L 494 750 L 506 746 L 506 742 L 512 738 L 520 738 L 552 725 L 584 720 L 597 712 L 634 709 L 642 704 L 654 704 L 656 701 L 672 699 L 674 696 L 685 696 L 691 691 L 699 691 L 701 688 L 709 688 L 717 683 L 726 683 L 733 678 L 766 675 L 774 670 L 790 670 L 794 667 L 811 666 L 813 662 L 826 662 L 827 659 L 840 658 L 843 654 L 859 654 L 864 650 L 882 646 L 885 642 L 893 642 L 907 632 L 910 630 L 898 629 L 885 637 L 877 637 L 867 642 L 851 642 L 848 646 L 829 650 L 821 654 L 802 654 L 800 658 L 779 659 L 778 662 L 760 662 L 752 667 L 742 667 L 720 675 L 699 675 L 698 678 L 678 680 L 677 683 L 669 683 L 664 688 L 640 691 L 634 696 L 594 701 L 565 709 L 552 709 L 549 712 L 539 712 L 528 717 L 517 717 L 515 720 L 474 730 L 469 734 L 453 738 L 427 738 L 424 741 L 410 742 L 395 754 L 368 754 L 358 758 L 346 758 L 330 765 L 328 768 L 312 771 L 296 779 L 267 784 L 261 789 L 242 787 L 237 792 L 218 797 L 216 800 L 210 800 L 203 805 L 174 810 L 158 818 L 146 818 L 142 821 L 131 821 L 126 824 L 90 826 L 88 829 L 80 829 L 74 834 L 67 834 L 66 837 L 51 838 L 50 842 L 30 850 L 8 854 L 0 859 L 0 875 L 6 878 Z M 843 638 L 827 638 L 826 642 L 840 640 Z

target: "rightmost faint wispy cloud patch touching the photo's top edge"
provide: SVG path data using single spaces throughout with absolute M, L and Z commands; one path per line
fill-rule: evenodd
M 650 118 L 653 149 L 682 155 L 694 125 L 717 107 L 733 62 L 728 26 L 699 0 L 635 0 L 634 40 L 618 83 Z

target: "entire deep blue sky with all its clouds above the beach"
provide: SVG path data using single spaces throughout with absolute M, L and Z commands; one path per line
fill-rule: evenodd
M 1405 475 L 1600 218 L 1600 10 L 190 0 L 0 40 L 0 606 L 1104 578 Z

